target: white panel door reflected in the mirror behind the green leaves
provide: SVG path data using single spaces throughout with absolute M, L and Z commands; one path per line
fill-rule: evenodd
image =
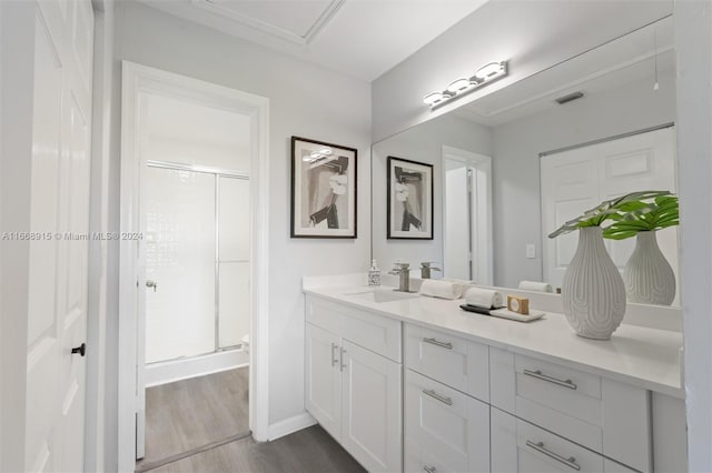
M 600 202 L 629 192 L 676 192 L 675 131 L 665 128 L 619 140 L 551 154 L 541 160 L 542 228 L 545 234 Z M 573 259 L 578 234 L 545 239 L 544 280 L 561 286 Z M 679 274 L 678 229 L 657 232 L 663 254 Z M 605 241 L 615 264 L 623 270 L 635 239 Z M 678 291 L 679 293 L 679 291 Z

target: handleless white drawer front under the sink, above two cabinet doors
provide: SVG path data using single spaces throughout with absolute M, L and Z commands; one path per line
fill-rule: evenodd
M 338 333 L 344 339 L 402 362 L 400 322 L 387 316 L 307 296 L 307 322 Z

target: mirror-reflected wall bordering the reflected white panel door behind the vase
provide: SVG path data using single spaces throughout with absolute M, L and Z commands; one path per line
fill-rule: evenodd
M 523 118 L 493 131 L 495 285 L 516 288 L 521 280 L 542 281 L 542 240 L 556 229 L 542 229 L 538 154 L 642 130 L 675 120 L 671 72 L 587 95 Z M 525 258 L 525 244 L 536 258 Z

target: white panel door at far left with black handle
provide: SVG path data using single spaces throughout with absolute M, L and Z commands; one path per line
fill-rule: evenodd
M 27 471 L 83 469 L 93 11 L 38 2 L 30 243 Z M 89 355 L 92 349 L 86 348 Z

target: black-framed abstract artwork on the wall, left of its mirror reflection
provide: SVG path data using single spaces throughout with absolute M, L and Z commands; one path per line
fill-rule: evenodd
M 291 137 L 291 238 L 356 238 L 357 154 Z

